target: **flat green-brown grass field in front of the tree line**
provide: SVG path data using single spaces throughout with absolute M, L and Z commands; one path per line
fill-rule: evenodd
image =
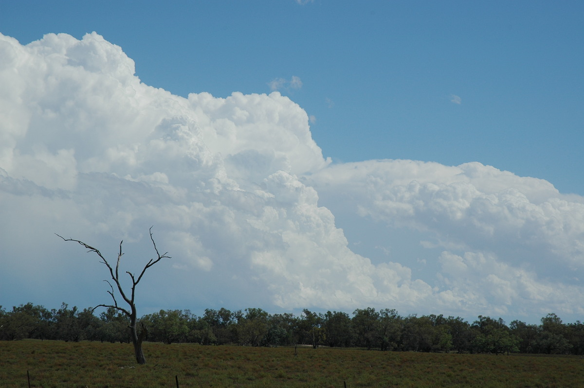
M 581 356 L 427 354 L 345 348 L 250 348 L 0 341 L 0 386 L 582 387 Z

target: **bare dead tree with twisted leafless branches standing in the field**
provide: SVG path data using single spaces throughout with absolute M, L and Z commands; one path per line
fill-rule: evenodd
M 93 307 L 92 312 L 95 311 L 95 309 L 97 309 L 98 307 L 113 307 L 114 309 L 123 312 L 124 314 L 126 314 L 126 316 L 128 318 L 130 318 L 130 326 L 128 326 L 128 327 L 130 328 L 130 335 L 132 338 L 132 343 L 134 344 L 134 353 L 136 356 L 136 362 L 138 362 L 138 363 L 146 363 L 146 358 L 144 357 L 144 352 L 142 352 L 142 341 L 144 340 L 144 337 L 148 333 L 148 330 L 144 324 L 141 324 L 140 333 L 138 333 L 136 305 L 134 303 L 136 286 L 138 285 L 138 283 L 142 279 L 142 276 L 144 275 L 144 272 L 146 272 L 146 270 L 148 268 L 152 267 L 152 265 L 158 263 L 158 261 L 162 260 L 163 258 L 171 258 L 170 256 L 167 256 L 168 252 L 163 253 L 163 254 L 160 254 L 158 252 L 158 248 L 156 247 L 156 243 L 154 242 L 154 237 L 152 237 L 152 227 L 150 227 L 149 231 L 150 231 L 150 240 L 152 241 L 152 245 L 154 245 L 154 250 L 156 251 L 157 258 L 151 258 L 150 261 L 148 261 L 148 263 L 146 265 L 144 265 L 144 268 L 142 269 L 142 272 L 140 272 L 140 275 L 138 276 L 138 278 L 135 278 L 134 274 L 131 273 L 130 271 L 126 271 L 126 273 L 128 275 L 130 275 L 130 278 L 132 279 L 132 287 L 130 289 L 130 296 L 129 297 L 127 296 L 126 292 L 124 292 L 124 290 L 121 288 L 120 276 L 119 276 L 119 271 L 118 271 L 119 267 L 120 267 L 120 259 L 121 259 L 121 256 L 123 255 L 123 253 L 121 253 L 121 243 L 123 243 L 124 240 L 120 241 L 120 253 L 117 255 L 116 268 L 114 269 L 109 264 L 109 262 L 106 260 L 106 258 L 103 257 L 102 253 L 98 249 L 95 249 L 94 247 L 89 246 L 88 244 L 86 244 L 82 241 L 75 240 L 75 239 L 65 239 L 64 237 L 57 235 L 57 236 L 61 237 L 61 239 L 63 239 L 64 241 L 74 241 L 74 242 L 81 244 L 86 249 L 89 249 L 88 252 L 95 252 L 102 259 L 102 261 L 100 261 L 100 263 L 103 263 L 106 265 L 107 269 L 110 272 L 110 276 L 112 277 L 112 280 L 117 287 L 117 291 L 120 293 L 121 298 L 124 299 L 124 302 L 126 302 L 128 304 L 128 306 L 130 306 L 130 307 L 128 309 L 127 307 L 124 308 L 124 307 L 121 307 L 117 304 L 116 295 L 114 293 L 114 288 L 112 286 L 112 283 L 110 283 L 109 281 L 106 280 L 107 284 L 109 284 L 109 286 L 111 288 L 111 291 L 107 291 L 107 293 L 109 293 L 109 295 L 112 296 L 113 305 L 97 305 L 97 306 Z M 56 234 L 57 233 L 55 233 L 55 235 Z

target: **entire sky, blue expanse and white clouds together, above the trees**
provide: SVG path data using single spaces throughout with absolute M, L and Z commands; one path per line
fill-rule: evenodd
M 0 305 L 581 320 L 583 19 L 0 0 Z

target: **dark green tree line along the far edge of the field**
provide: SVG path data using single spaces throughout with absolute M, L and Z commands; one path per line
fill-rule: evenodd
M 584 324 L 564 324 L 554 313 L 541 323 L 519 320 L 508 326 L 502 319 L 478 316 L 469 323 L 461 317 L 440 315 L 400 316 L 394 309 L 371 307 L 345 312 L 315 313 L 304 309 L 269 314 L 259 308 L 230 311 L 206 309 L 202 316 L 189 310 L 160 310 L 146 314 L 140 323 L 147 341 L 197 342 L 201 345 L 248 346 L 310 345 L 363 347 L 382 351 L 509 352 L 584 354 Z M 62 303 L 60 309 L 26 303 L 6 311 L 0 306 L 0 340 L 131 342 L 130 320 L 109 307 L 99 316 L 93 309 L 79 310 Z

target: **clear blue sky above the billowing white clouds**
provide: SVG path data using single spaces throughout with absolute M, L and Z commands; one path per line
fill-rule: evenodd
M 325 156 L 478 161 L 584 194 L 578 1 L 0 2 L 2 33 L 98 32 L 142 82 L 267 93 L 316 118 Z M 451 102 L 458 96 L 460 104 Z

